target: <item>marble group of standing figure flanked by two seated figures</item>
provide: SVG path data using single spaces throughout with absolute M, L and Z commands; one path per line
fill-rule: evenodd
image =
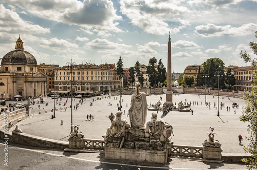
M 143 93 L 140 92 L 139 82 L 136 82 L 135 87 L 136 91 L 131 97 L 131 107 L 128 110 L 130 124 L 121 118 L 122 112 L 118 111 L 116 115 L 111 113 L 108 116 L 111 126 L 103 136 L 106 146 L 163 150 L 165 143 L 171 143 L 172 125 L 162 119 L 157 119 L 157 113 L 152 113 L 151 120 L 146 122 L 148 110 L 146 96 L 150 94 L 149 88 L 146 88 L 147 93 Z M 160 144 L 160 142 L 163 143 Z

